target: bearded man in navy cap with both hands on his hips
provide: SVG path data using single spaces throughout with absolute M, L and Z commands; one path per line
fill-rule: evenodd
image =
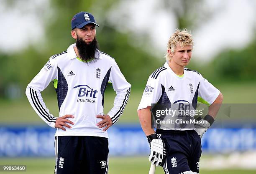
M 131 85 L 115 60 L 98 48 L 92 14 L 80 12 L 71 20 L 76 43 L 49 61 L 28 84 L 26 95 L 46 124 L 56 128 L 55 174 L 107 174 L 107 129 L 120 118 Z M 41 91 L 53 81 L 59 117 L 46 107 Z M 116 92 L 113 108 L 103 113 L 107 83 Z

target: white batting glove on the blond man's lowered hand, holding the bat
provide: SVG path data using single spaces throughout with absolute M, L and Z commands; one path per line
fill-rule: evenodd
M 165 144 L 161 139 L 158 139 L 156 134 L 151 134 L 147 136 L 148 143 L 151 149 L 151 154 L 148 157 L 148 160 L 156 166 L 164 166 L 166 159 L 166 149 Z

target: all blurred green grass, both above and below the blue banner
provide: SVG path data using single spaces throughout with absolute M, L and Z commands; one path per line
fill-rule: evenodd
M 110 87 L 110 86 L 109 86 Z M 224 103 L 256 103 L 256 83 L 232 83 L 216 85 L 223 93 Z M 24 90 L 25 91 L 25 90 Z M 137 107 L 140 102 L 143 89 L 133 89 L 123 116 L 118 123 L 138 123 Z M 43 94 L 44 96 L 44 94 Z M 105 113 L 113 106 L 115 92 L 105 93 Z M 58 116 L 58 106 L 56 95 L 44 97 L 46 106 L 52 114 Z M 32 109 L 28 100 L 22 98 L 15 101 L 1 101 L 0 109 L 2 116 L 0 123 L 3 124 L 44 124 L 39 116 Z M 208 160 L 203 156 L 201 161 Z M 26 172 L 0 172 L 0 174 L 52 174 L 54 171 L 54 158 L 0 158 L 0 165 L 4 164 L 24 164 L 27 165 Z M 201 164 L 201 162 L 200 162 Z M 147 157 L 110 157 L 109 174 L 147 174 L 150 163 Z M 157 168 L 156 174 L 164 174 L 162 168 Z M 255 170 L 225 169 L 225 170 L 207 170 L 200 169 L 200 174 L 256 174 Z

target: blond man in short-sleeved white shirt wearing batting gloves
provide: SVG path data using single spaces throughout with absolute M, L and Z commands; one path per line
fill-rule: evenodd
M 154 71 L 148 78 L 141 102 L 138 106 L 138 117 L 141 127 L 151 147 L 149 161 L 162 166 L 166 174 L 197 174 L 201 156 L 201 137 L 213 123 L 223 96 L 197 71 L 188 65 L 193 50 L 193 38 L 187 30 L 176 30 L 169 38 L 166 52 L 166 63 Z M 209 106 L 206 116 L 200 116 L 192 124 L 184 124 L 186 119 L 194 119 L 191 111 L 197 108 L 197 101 Z M 158 105 L 158 106 L 157 106 Z M 159 106 L 160 105 L 160 106 Z M 166 115 L 159 117 L 156 132 L 151 123 L 156 106 L 177 106 L 178 111 L 189 111 L 175 115 L 174 124 L 161 125 Z M 165 108 L 163 108 L 165 106 Z M 175 107 L 174 107 L 175 108 Z M 189 108 L 189 109 L 188 109 Z M 188 110 L 187 110 L 188 109 Z M 182 119 L 180 119 L 182 118 Z M 158 118 L 155 117 L 155 120 Z M 152 119 L 152 120 L 154 120 Z M 179 120 L 179 121 L 177 121 Z M 176 122 L 177 121 L 177 122 Z

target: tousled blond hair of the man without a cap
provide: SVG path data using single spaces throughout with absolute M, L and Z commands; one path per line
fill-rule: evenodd
M 173 33 L 168 41 L 167 44 L 167 50 L 171 50 L 172 53 L 174 53 L 177 44 L 180 44 L 181 47 L 191 45 L 193 47 L 194 42 L 192 35 L 187 31 L 187 29 L 179 30 L 176 29 L 176 32 Z M 166 58 L 166 61 L 171 60 L 171 55 L 167 52 L 164 57 Z

